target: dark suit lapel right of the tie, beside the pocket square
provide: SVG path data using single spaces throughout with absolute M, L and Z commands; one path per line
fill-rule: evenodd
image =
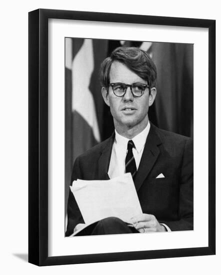
M 159 155 L 158 145 L 161 143 L 161 140 L 156 134 L 155 129 L 156 127 L 150 124 L 149 133 L 146 138 L 142 157 L 134 180 L 136 191 L 140 188 Z

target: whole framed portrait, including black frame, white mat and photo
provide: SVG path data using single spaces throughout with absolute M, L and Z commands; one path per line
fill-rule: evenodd
M 30 263 L 215 253 L 214 29 L 29 12 Z

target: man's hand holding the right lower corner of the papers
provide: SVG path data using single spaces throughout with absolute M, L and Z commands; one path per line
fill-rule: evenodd
M 140 233 L 166 231 L 165 227 L 159 224 L 154 215 L 137 215 L 131 218 L 131 222 Z

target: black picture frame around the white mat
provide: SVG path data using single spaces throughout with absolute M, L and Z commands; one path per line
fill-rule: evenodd
M 48 19 L 208 29 L 208 246 L 48 256 Z M 28 261 L 36 265 L 215 254 L 215 20 L 37 9 L 28 14 Z

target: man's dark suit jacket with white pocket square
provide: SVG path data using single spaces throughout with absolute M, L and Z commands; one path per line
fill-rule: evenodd
M 109 179 L 114 134 L 76 158 L 71 182 Z M 134 184 L 143 213 L 153 214 L 171 230 L 193 229 L 193 142 L 189 137 L 150 124 Z M 156 178 L 162 173 L 163 178 Z M 66 236 L 84 223 L 72 192 L 67 205 Z

